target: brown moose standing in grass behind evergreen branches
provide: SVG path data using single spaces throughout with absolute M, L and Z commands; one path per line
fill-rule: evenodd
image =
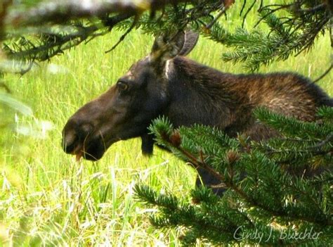
M 149 56 L 72 115 L 63 129 L 64 151 L 98 160 L 116 141 L 141 137 L 142 152 L 151 154 L 148 127 L 162 115 L 174 127 L 209 125 L 230 137 L 242 133 L 259 141 L 277 133 L 256 121 L 256 107 L 314 121 L 319 106 L 333 106 L 322 89 L 293 72 L 233 75 L 185 58 L 198 37 L 182 31 L 157 37 Z M 198 173 L 197 185 L 219 183 L 205 170 Z

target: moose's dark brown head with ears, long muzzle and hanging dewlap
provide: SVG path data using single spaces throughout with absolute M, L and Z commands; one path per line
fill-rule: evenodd
M 98 160 L 116 141 L 141 137 L 143 153 L 152 153 L 148 126 L 169 105 L 170 61 L 190 53 L 197 39 L 198 34 L 181 31 L 157 37 L 149 56 L 72 115 L 63 129 L 64 151 L 77 159 Z

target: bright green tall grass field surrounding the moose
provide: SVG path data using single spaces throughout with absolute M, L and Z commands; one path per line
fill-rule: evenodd
M 228 20 L 227 24 L 233 28 L 239 23 Z M 44 139 L 15 136 L 10 145 L 1 147 L 0 243 L 4 246 L 179 245 L 181 229 L 150 226 L 149 213 L 155 209 L 136 201 L 133 185 L 144 182 L 190 200 L 196 176 L 192 168 L 157 148 L 151 158 L 142 156 L 138 139 L 112 145 L 96 163 L 77 163 L 60 146 L 67 119 L 150 51 L 152 37 L 136 31 L 105 54 L 119 35 L 112 32 L 82 44 L 22 77 L 6 77 L 14 96 L 34 109 L 35 118 L 52 122 L 53 128 Z M 200 39 L 190 58 L 225 72 L 246 72 L 241 64 L 221 61 L 223 51 L 225 47 Z M 315 79 L 329 67 L 330 52 L 327 35 L 310 53 L 260 72 L 287 70 Z M 332 79 L 331 73 L 320 81 L 331 95 Z

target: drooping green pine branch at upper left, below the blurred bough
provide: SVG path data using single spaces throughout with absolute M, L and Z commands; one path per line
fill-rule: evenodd
M 57 27 L 41 27 L 43 32 L 37 34 L 37 42 L 21 37 L 18 42 L 7 42 L 4 44 L 4 51 L 9 59 L 22 61 L 20 74 L 29 71 L 34 61 L 48 61 L 64 51 L 71 49 L 82 42 L 89 42 L 91 39 L 102 36 L 110 32 L 115 25 L 131 17 L 131 14 L 115 15 L 103 18 L 100 23 L 67 23 L 72 29 L 71 32 L 55 33 Z M 58 28 L 60 30 L 60 27 Z M 35 39 L 36 40 L 36 39 Z

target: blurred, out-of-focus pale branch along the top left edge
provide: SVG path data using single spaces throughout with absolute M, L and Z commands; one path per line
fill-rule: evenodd
M 78 18 L 104 17 L 110 13 L 139 15 L 144 11 L 157 11 L 168 4 L 180 4 L 188 0 L 148 0 L 148 1 L 43 1 L 41 4 L 27 11 L 15 11 L 8 17 L 8 23 L 18 25 L 40 25 L 51 22 L 53 24 L 67 23 Z

